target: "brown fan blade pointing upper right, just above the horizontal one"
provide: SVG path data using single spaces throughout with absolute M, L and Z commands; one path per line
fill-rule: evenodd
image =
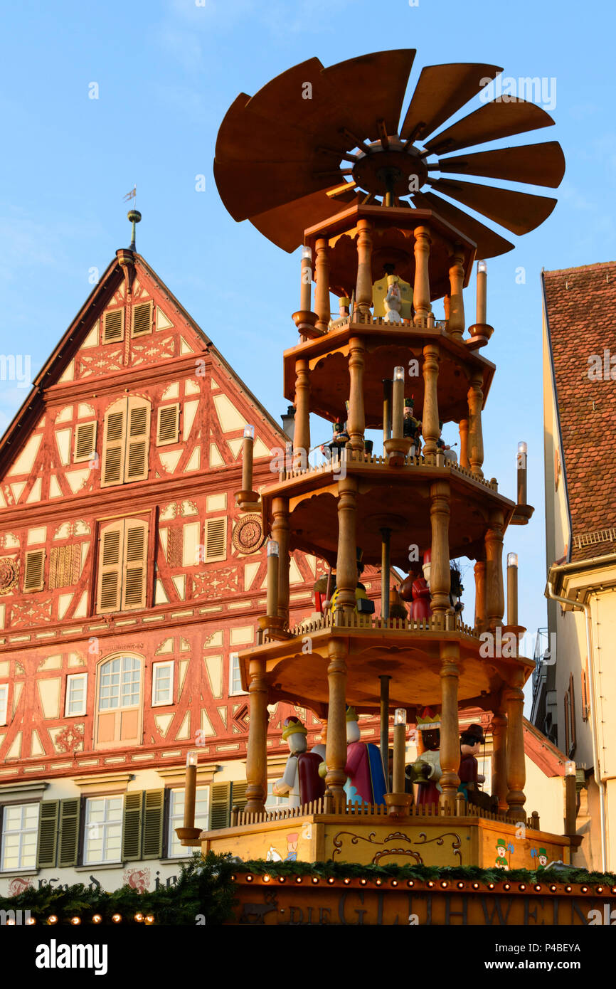
M 536 131 L 541 127 L 551 127 L 554 121 L 541 107 L 516 97 L 507 97 L 504 103 L 499 97 L 486 103 L 479 110 L 453 124 L 447 131 L 432 137 L 425 147 L 432 154 L 448 154 L 462 147 L 481 144 L 484 140 L 498 137 L 511 137 L 524 131 Z

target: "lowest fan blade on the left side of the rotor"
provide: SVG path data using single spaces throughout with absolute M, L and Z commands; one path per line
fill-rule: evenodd
M 360 197 L 355 193 L 355 187 L 352 183 L 347 184 L 348 190 L 342 190 L 336 196 L 328 196 L 327 192 L 330 190 L 313 192 L 292 203 L 251 217 L 250 223 L 278 247 L 291 252 L 304 243 L 307 226 L 319 224 L 327 217 L 341 213 L 345 206 L 359 203 Z

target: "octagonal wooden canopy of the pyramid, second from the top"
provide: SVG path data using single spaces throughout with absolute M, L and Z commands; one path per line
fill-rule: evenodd
M 414 415 L 421 419 L 423 410 L 422 349 L 426 343 L 438 343 L 440 364 L 438 408 L 443 422 L 459 422 L 469 417 L 469 379 L 483 374 L 484 405 L 495 367 L 477 351 L 458 343 L 444 329 L 422 329 L 407 324 L 348 322 L 322 336 L 299 343 L 284 353 L 285 398 L 295 401 L 296 361 L 308 360 L 310 376 L 310 411 L 332 422 L 346 419 L 345 402 L 349 397 L 349 340 L 361 337 L 366 347 L 364 371 L 364 408 L 366 428 L 383 427 L 383 380 L 394 377 L 394 368 L 406 374 L 406 398 L 414 399 Z M 408 376 L 409 360 L 418 362 L 418 375 Z

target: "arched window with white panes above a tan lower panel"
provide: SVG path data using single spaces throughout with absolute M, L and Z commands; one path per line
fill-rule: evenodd
M 139 656 L 114 656 L 99 666 L 97 748 L 140 742 L 142 679 L 143 661 Z

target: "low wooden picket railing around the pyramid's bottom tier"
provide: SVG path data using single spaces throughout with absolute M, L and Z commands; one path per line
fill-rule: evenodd
M 233 807 L 231 811 L 231 827 L 241 828 L 251 824 L 266 824 L 271 821 L 293 821 L 298 818 L 310 815 L 344 814 L 350 817 L 387 818 L 389 811 L 385 804 L 350 803 L 343 800 L 336 800 L 331 794 L 318 800 L 312 800 L 300 807 L 276 807 L 272 810 L 261 813 L 249 813 Z M 446 808 L 438 804 L 412 804 L 406 817 L 460 817 L 460 818 L 483 818 L 487 821 L 499 821 L 502 824 L 515 824 L 516 827 L 524 825 L 532 831 L 540 830 L 539 814 L 533 811 L 530 817 L 523 814 L 519 819 L 513 821 L 506 814 L 490 811 L 479 807 L 477 804 L 469 803 L 462 793 L 457 793 L 454 798 L 454 805 L 451 813 Z

